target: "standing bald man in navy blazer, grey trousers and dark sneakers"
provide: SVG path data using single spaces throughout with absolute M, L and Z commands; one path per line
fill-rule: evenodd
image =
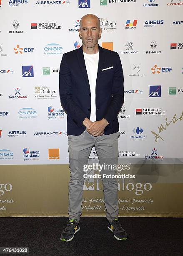
M 83 45 L 63 54 L 60 64 L 60 101 L 67 113 L 70 163 L 69 222 L 60 237 L 66 242 L 80 230 L 83 166 L 88 164 L 92 147 L 103 166 L 118 164 L 117 116 L 124 102 L 123 69 L 118 53 L 98 45 L 101 33 L 97 16 L 83 16 L 79 29 Z M 125 240 L 126 231 L 118 220 L 118 182 L 106 178 L 109 174 L 115 175 L 115 170 L 101 170 L 108 229 L 116 239 Z

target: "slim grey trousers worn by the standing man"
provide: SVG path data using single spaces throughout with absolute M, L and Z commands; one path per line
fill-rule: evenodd
M 93 146 L 98 154 L 99 164 L 118 164 L 118 137 L 119 132 L 110 135 L 94 137 L 86 130 L 79 136 L 68 135 L 69 141 L 69 220 L 80 220 L 82 214 L 83 184 L 85 172 L 84 164 L 88 164 L 88 158 Z M 106 208 L 106 218 L 109 221 L 118 218 L 118 182 L 117 179 L 103 178 L 103 174 L 115 175 L 115 170 L 101 171 L 104 204 Z

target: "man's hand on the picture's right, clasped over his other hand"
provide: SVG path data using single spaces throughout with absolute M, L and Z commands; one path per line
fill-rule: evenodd
M 103 131 L 105 127 L 108 125 L 108 121 L 103 118 L 100 121 L 95 121 L 90 124 L 87 128 L 88 133 L 93 135 L 94 137 L 103 135 Z

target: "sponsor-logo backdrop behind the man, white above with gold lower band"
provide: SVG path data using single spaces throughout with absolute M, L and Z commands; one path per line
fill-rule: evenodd
M 63 54 L 82 45 L 88 13 L 100 18 L 99 44 L 118 52 L 124 72 L 120 216 L 183 217 L 182 12 L 183 0 L 0 0 L 1 217 L 67 216 L 59 68 Z M 83 215 L 104 216 L 100 172 L 86 174 Z

